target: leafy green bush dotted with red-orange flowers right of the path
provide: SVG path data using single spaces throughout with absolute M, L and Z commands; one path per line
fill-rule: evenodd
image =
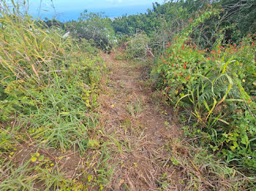
M 251 36 L 240 44 L 221 44 L 200 50 L 189 34 L 209 15 L 200 14 L 184 32 L 167 44 L 155 73 L 173 104 L 194 121 L 201 143 L 249 174 L 256 169 L 255 43 Z

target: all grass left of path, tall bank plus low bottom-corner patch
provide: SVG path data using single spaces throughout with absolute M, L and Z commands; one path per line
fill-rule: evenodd
M 104 64 L 89 42 L 63 37 L 61 28 L 21 12 L 0 9 L 0 190 L 69 187 L 58 164 L 34 163 L 34 149 L 82 154 L 97 126 L 97 94 Z M 87 51 L 84 51 L 87 50 Z M 30 160 L 15 164 L 20 148 Z

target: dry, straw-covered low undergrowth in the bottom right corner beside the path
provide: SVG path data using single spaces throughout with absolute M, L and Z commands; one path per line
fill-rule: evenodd
M 175 169 L 179 179 L 171 179 L 166 172 L 159 179 L 162 190 L 170 190 L 172 186 L 178 190 L 246 190 L 253 187 L 252 178 L 228 167 L 206 148 L 197 147 L 195 139 L 173 139 L 165 144 L 165 149 L 168 155 L 163 167 L 166 171 Z

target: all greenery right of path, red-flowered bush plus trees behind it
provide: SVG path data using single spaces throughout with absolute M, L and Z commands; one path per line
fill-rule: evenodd
M 130 36 L 128 59 L 153 55 L 152 80 L 187 137 L 252 177 L 255 13 L 253 1 L 170 1 L 113 21 L 117 34 Z

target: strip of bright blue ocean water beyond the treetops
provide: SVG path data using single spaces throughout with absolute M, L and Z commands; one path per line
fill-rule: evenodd
M 104 15 L 114 18 L 114 17 L 121 17 L 122 15 L 137 15 L 140 13 L 145 13 L 147 9 L 151 9 L 148 6 L 131 6 L 131 7 L 113 7 L 108 9 L 88 9 L 88 12 L 105 12 Z M 40 17 L 44 19 L 48 17 L 49 19 L 56 17 L 57 20 L 62 22 L 69 21 L 69 20 L 78 20 L 80 17 L 80 13 L 83 12 L 83 9 L 77 11 L 66 11 L 66 12 L 40 12 Z M 34 16 L 38 17 L 37 14 Z

